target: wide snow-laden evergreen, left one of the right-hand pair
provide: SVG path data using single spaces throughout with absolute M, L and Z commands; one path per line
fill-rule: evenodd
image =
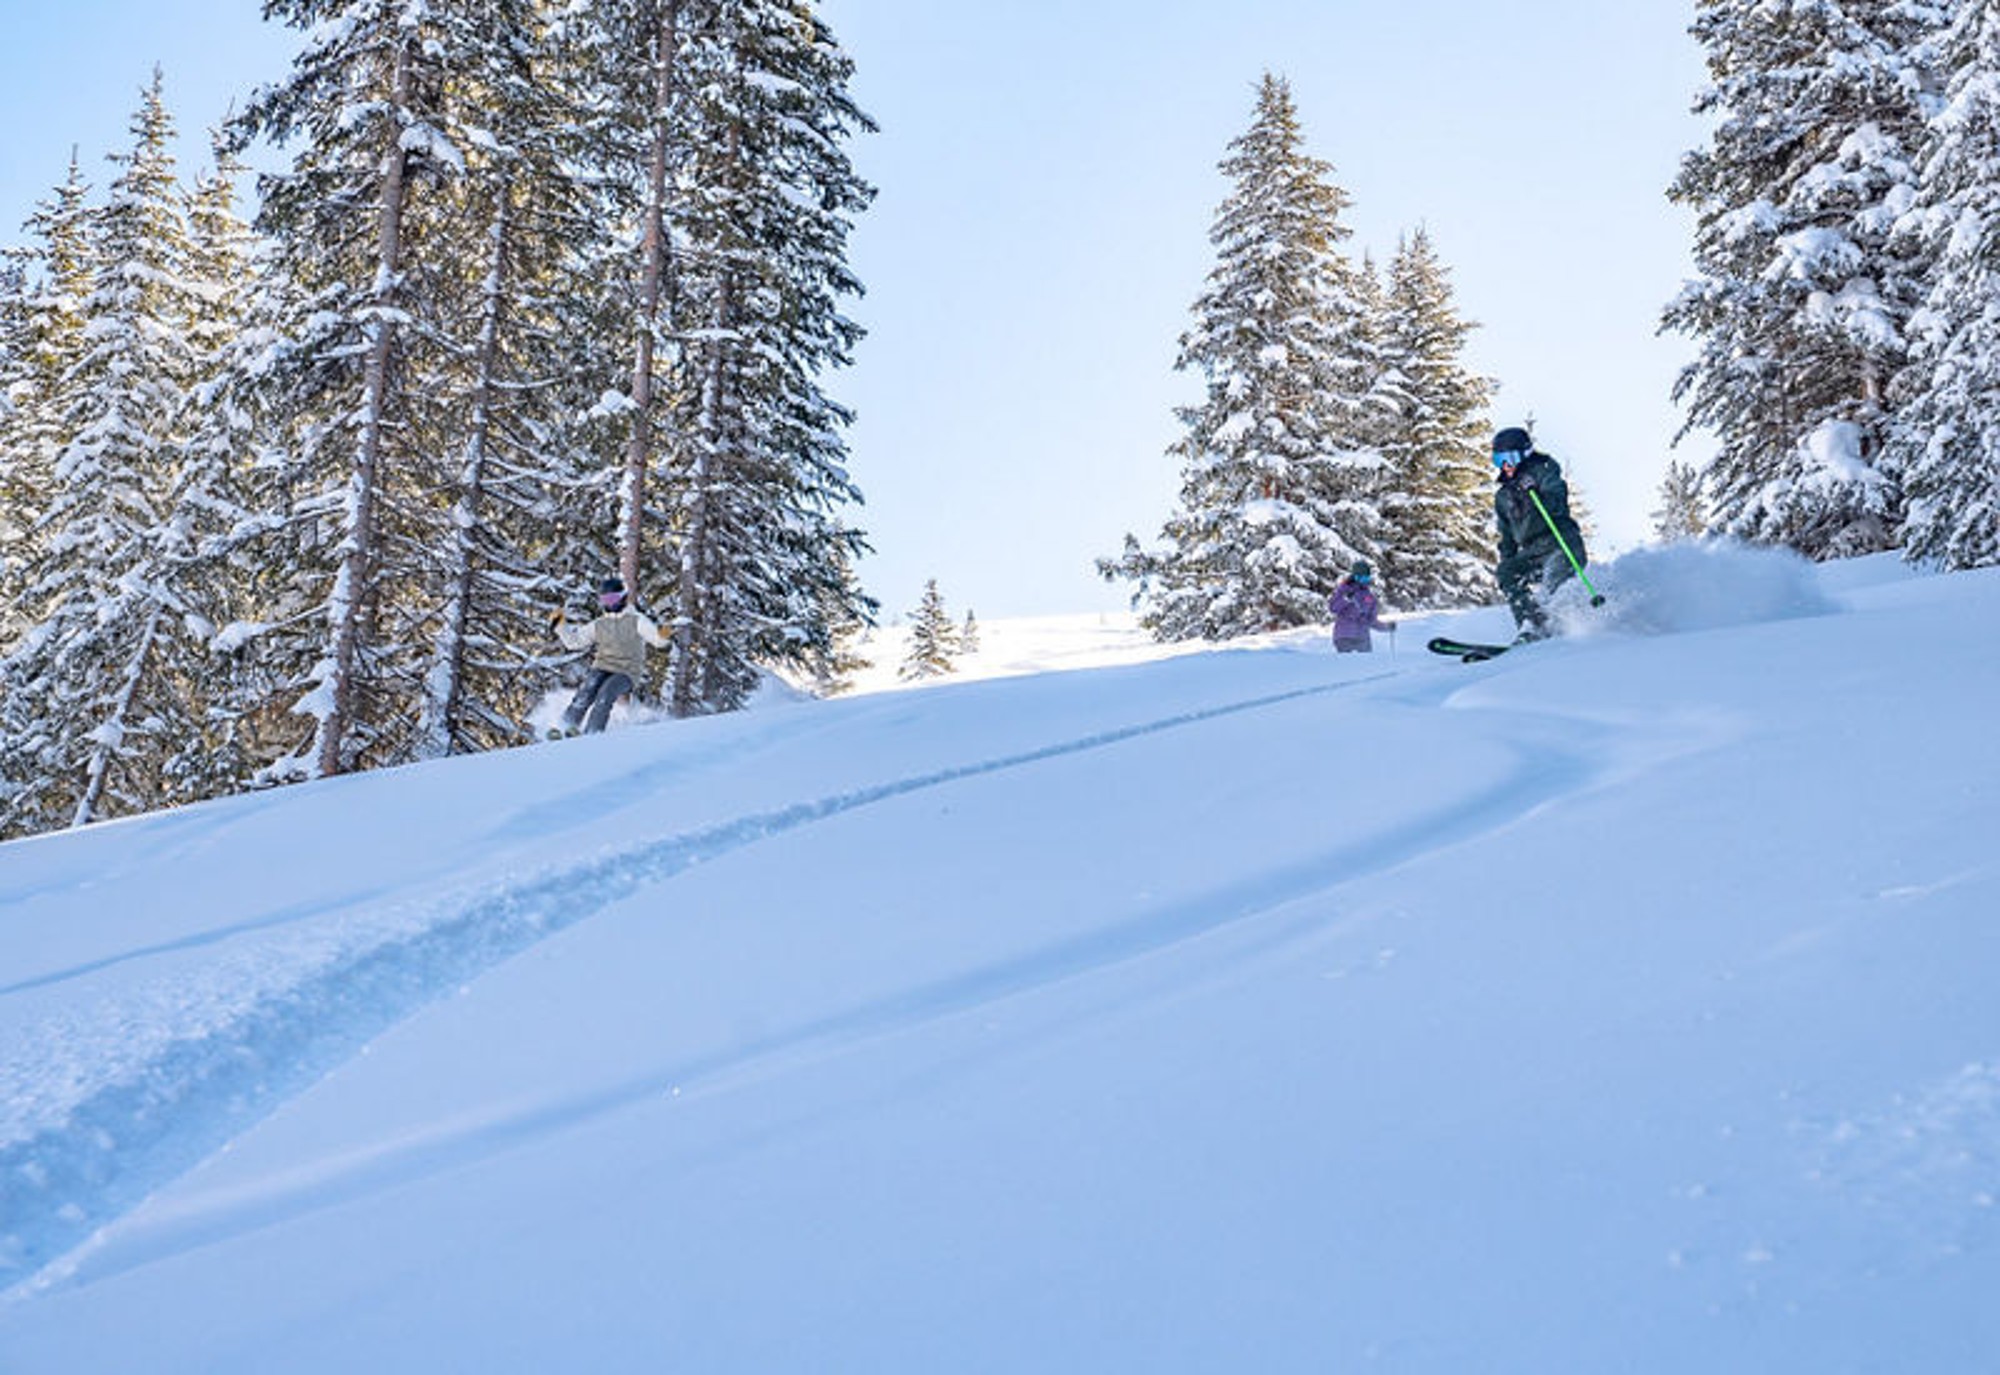
M 1700 342 L 1676 382 L 1716 434 L 1714 526 L 1810 558 L 1894 548 L 1884 444 L 1904 324 L 1928 262 L 1894 234 L 1916 190 L 1936 0 L 1700 0 L 1714 86 L 1704 150 L 1670 198 L 1694 208 L 1700 276 L 1664 328 Z

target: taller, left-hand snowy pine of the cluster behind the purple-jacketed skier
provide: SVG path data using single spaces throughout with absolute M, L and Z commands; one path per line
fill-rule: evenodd
M 1136 584 L 1160 640 L 1312 624 L 1386 534 L 1380 364 L 1366 284 L 1340 250 L 1348 194 L 1304 152 L 1284 80 L 1264 76 L 1220 166 L 1232 192 L 1210 230 L 1218 262 L 1176 360 L 1206 382 L 1178 412 L 1178 508 L 1160 550 L 1126 536 L 1120 558 L 1098 560 L 1106 580 Z

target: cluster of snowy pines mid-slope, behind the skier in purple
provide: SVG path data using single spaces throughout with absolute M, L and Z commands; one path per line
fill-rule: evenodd
M 1386 274 L 1346 252 L 1350 198 L 1282 78 L 1220 166 L 1216 266 L 1176 360 L 1204 380 L 1170 450 L 1180 498 L 1156 548 L 1126 536 L 1098 572 L 1134 584 L 1160 640 L 1324 622 L 1356 560 L 1404 608 L 1492 600 L 1494 384 L 1462 366 L 1474 326 L 1430 236 Z

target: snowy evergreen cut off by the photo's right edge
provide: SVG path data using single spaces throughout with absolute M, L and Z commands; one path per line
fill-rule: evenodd
M 1936 258 L 1912 320 L 1912 402 L 1896 460 L 1908 496 L 1904 554 L 1942 568 L 2000 564 L 2000 6 L 1960 4 L 1938 38 L 1946 82 L 1914 236 Z

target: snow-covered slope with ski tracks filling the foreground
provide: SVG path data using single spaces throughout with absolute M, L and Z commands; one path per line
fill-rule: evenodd
M 1996 1369 L 2000 570 L 1600 586 L 0 845 L 0 1371 Z

